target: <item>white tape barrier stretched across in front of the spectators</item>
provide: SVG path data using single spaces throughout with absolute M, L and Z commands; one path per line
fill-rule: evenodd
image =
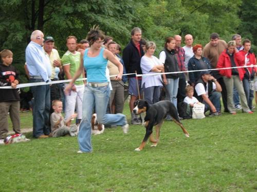
M 192 73 L 192 72 L 201 72 L 201 71 L 215 71 L 215 70 L 226 70 L 226 69 L 235 69 L 235 68 L 257 68 L 256 65 L 251 65 L 251 66 L 240 66 L 240 67 L 230 67 L 230 68 L 219 68 L 219 69 L 205 69 L 205 70 L 192 70 L 192 71 L 177 71 L 177 72 L 167 72 L 167 73 L 150 73 L 150 74 L 136 74 L 136 73 L 127 73 L 123 75 L 136 75 L 137 77 L 142 77 L 142 76 L 152 76 L 152 75 L 162 75 L 162 74 L 177 74 L 177 73 Z M 115 77 L 116 75 L 111 75 L 110 77 Z M 76 81 L 82 81 L 86 80 L 87 78 L 80 78 L 77 79 Z M 67 80 L 57 80 L 57 81 L 51 81 L 51 82 L 33 82 L 33 83 L 21 83 L 17 84 L 17 87 L 15 89 L 19 88 L 26 88 L 26 87 L 32 87 L 32 86 L 43 86 L 46 84 L 56 84 L 56 83 L 65 83 L 65 82 L 70 82 L 71 79 Z M 3 86 L 0 87 L 0 89 L 14 89 L 11 86 Z

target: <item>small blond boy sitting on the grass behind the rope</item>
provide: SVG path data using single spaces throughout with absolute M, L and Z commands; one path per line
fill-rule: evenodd
M 66 126 L 68 122 L 76 118 L 78 114 L 71 115 L 66 121 L 62 116 L 63 103 L 60 100 L 52 101 L 53 113 L 50 116 L 51 123 L 51 135 L 52 137 L 61 137 L 65 135 L 77 136 L 78 135 L 78 126 L 70 125 Z

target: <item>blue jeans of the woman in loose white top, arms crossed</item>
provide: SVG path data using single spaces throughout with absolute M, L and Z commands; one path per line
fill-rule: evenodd
M 144 99 L 149 104 L 157 103 L 160 100 L 160 86 L 145 88 L 143 85 Z

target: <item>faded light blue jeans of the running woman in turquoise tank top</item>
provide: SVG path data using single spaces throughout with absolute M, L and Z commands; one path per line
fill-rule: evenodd
M 110 88 L 86 86 L 83 95 L 83 113 L 79 130 L 79 147 L 82 152 L 91 152 L 91 117 L 96 109 L 97 120 L 104 125 L 125 125 L 126 116 L 123 114 L 106 114 Z

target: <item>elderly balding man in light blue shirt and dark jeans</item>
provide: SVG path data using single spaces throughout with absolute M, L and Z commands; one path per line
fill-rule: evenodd
M 51 64 L 43 50 L 44 34 L 35 30 L 31 33 L 30 42 L 26 48 L 26 62 L 30 82 L 49 82 L 51 77 Z M 47 138 L 50 133 L 49 110 L 50 88 L 49 85 L 31 87 L 33 93 L 33 137 Z

